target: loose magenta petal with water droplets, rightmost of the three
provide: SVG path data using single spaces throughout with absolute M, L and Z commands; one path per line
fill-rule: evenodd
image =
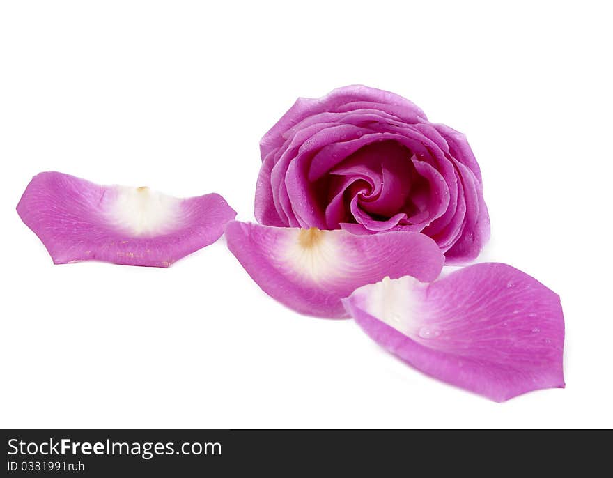
M 432 284 L 384 279 L 343 304 L 405 362 L 494 401 L 564 387 L 559 297 L 510 265 L 471 265 Z

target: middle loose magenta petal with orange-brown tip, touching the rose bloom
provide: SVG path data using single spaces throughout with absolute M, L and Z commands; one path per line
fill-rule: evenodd
M 228 249 L 265 293 L 290 309 L 346 317 L 341 304 L 355 288 L 385 276 L 433 280 L 444 256 L 419 233 L 355 236 L 336 229 L 278 228 L 233 221 Z

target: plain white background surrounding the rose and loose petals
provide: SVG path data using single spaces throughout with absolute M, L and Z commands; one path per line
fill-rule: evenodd
M 459 3 L 0 3 L 0 426 L 613 426 L 607 2 Z M 561 295 L 565 390 L 498 404 L 430 379 L 268 298 L 223 239 L 167 270 L 54 266 L 15 213 L 56 170 L 252 220 L 262 134 L 355 83 L 467 134 L 479 260 Z

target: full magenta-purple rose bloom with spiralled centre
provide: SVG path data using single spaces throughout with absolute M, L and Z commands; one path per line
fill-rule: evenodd
M 474 259 L 489 238 L 481 171 L 465 136 L 394 93 L 346 86 L 299 98 L 260 149 L 261 224 L 418 231 L 447 263 Z

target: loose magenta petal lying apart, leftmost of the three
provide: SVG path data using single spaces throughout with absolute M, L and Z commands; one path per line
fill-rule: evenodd
M 56 264 L 95 259 L 155 267 L 212 244 L 236 216 L 219 194 L 178 199 L 56 172 L 32 178 L 17 213 Z

